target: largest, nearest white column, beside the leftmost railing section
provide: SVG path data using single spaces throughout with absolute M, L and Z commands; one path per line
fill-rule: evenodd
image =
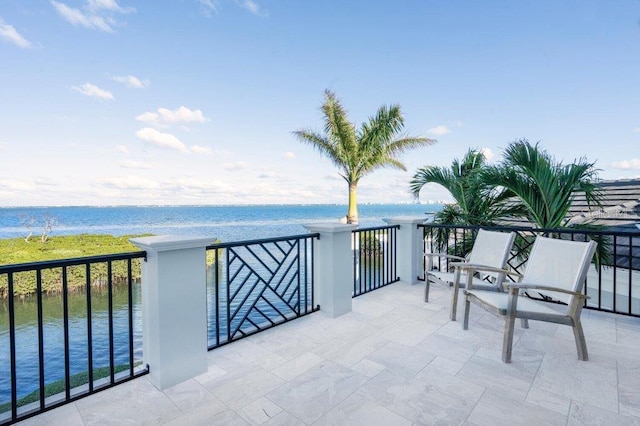
M 143 357 L 160 390 L 207 371 L 205 247 L 215 238 L 132 238 L 142 262 Z

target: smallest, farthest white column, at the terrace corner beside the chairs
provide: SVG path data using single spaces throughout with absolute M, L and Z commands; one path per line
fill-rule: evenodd
M 418 284 L 418 276 L 422 271 L 422 230 L 418 225 L 424 223 L 426 217 L 391 217 L 382 219 L 388 225 L 400 225 L 397 234 L 398 276 L 411 285 Z

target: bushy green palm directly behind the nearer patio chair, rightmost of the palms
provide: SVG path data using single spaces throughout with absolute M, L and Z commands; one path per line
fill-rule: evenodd
M 524 216 L 540 228 L 567 226 L 567 213 L 578 193 L 584 194 L 588 205 L 601 205 L 594 163 L 580 158 L 564 165 L 538 145 L 527 139 L 512 142 L 502 163 L 482 170 L 480 178 L 515 195 Z

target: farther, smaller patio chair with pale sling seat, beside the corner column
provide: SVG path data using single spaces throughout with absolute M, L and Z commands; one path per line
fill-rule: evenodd
M 449 317 L 452 321 L 455 321 L 458 307 L 458 291 L 461 287 L 468 286 L 469 282 L 472 282 L 478 288 L 500 291 L 502 282 L 508 272 L 504 268 L 509 259 L 509 253 L 515 237 L 516 234 L 514 232 L 496 232 L 480 229 L 467 258 L 446 253 L 425 253 L 424 301 L 429 301 L 431 283 L 451 286 Z M 449 270 L 435 270 L 433 268 L 434 258 L 445 259 Z M 450 260 L 457 260 L 457 262 L 449 262 Z

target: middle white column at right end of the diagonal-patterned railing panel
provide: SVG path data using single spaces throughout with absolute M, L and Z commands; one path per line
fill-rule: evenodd
M 331 318 L 351 312 L 353 292 L 353 252 L 351 231 L 357 225 L 340 223 L 305 225 L 318 232 L 313 259 L 314 298 L 320 312 Z

